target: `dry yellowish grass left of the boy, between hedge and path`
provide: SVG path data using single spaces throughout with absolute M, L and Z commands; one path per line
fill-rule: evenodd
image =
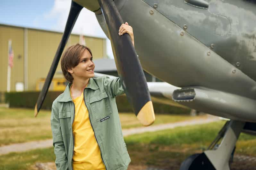
M 50 111 L 0 108 L 0 146 L 52 138 Z

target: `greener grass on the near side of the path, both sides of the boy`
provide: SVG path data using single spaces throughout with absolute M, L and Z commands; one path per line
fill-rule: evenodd
M 131 164 L 129 170 L 141 170 L 149 166 L 162 169 L 179 169 L 181 162 L 189 155 L 205 150 L 218 134 L 225 122 L 205 125 L 177 127 L 175 129 L 150 132 L 125 137 Z M 235 155 L 256 156 L 256 137 L 241 134 Z M 24 153 L 10 153 L 0 157 L 0 169 L 29 169 L 36 162 L 54 162 L 53 148 L 32 150 Z M 15 165 L 13 164 L 15 162 Z M 231 170 L 253 169 L 256 162 L 235 162 Z

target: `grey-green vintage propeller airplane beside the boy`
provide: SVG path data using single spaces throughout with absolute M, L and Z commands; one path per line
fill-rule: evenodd
M 150 95 L 230 119 L 208 150 L 185 159 L 180 170 L 229 170 L 240 133 L 256 134 L 256 1 L 73 0 L 35 115 L 83 7 L 111 40 L 118 75 L 143 125 L 155 120 Z M 133 28 L 135 49 L 128 35 L 117 36 L 124 21 Z M 142 68 L 164 83 L 148 85 Z

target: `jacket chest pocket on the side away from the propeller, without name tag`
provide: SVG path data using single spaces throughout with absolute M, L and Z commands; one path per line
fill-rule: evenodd
M 61 111 L 59 112 L 60 128 L 62 135 L 71 133 L 71 112 Z

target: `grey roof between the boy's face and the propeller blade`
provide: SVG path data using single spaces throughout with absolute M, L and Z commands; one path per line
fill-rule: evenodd
M 93 61 L 95 72 L 117 71 L 114 59 L 97 59 Z

